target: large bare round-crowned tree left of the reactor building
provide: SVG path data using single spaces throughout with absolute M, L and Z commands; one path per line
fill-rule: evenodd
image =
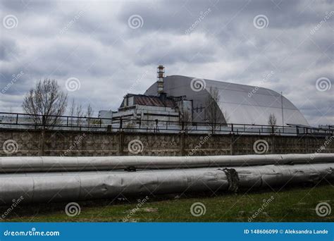
M 67 94 L 56 80 L 39 80 L 25 95 L 22 106 L 37 125 L 54 125 L 66 111 Z

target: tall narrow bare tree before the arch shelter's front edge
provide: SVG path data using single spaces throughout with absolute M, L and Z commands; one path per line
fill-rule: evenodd
M 206 120 L 209 123 L 212 133 L 216 132 L 216 128 L 218 123 L 223 121 L 223 116 L 221 113 L 221 109 L 218 106 L 219 101 L 219 92 L 218 88 L 210 87 L 209 95 L 206 99 Z

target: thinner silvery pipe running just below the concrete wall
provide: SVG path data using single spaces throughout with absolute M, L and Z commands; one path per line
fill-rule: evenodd
M 0 173 L 105 171 L 166 168 L 334 163 L 334 154 L 269 154 L 241 156 L 12 156 L 0 157 Z

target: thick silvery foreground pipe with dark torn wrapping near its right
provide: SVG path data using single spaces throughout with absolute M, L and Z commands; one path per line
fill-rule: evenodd
M 18 173 L 0 175 L 0 203 L 55 202 L 123 195 L 221 192 L 334 180 L 334 164 L 190 168 L 159 171 Z

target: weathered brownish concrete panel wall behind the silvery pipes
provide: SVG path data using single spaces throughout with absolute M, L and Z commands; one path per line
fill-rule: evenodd
M 256 154 L 254 143 L 257 142 L 259 142 L 259 145 L 263 144 L 266 154 L 314 153 L 317 150 L 322 153 L 333 153 L 333 140 L 334 137 L 311 136 L 0 129 L 0 156 L 241 155 Z M 259 148 L 259 154 L 261 154 L 261 151 L 262 149 Z

